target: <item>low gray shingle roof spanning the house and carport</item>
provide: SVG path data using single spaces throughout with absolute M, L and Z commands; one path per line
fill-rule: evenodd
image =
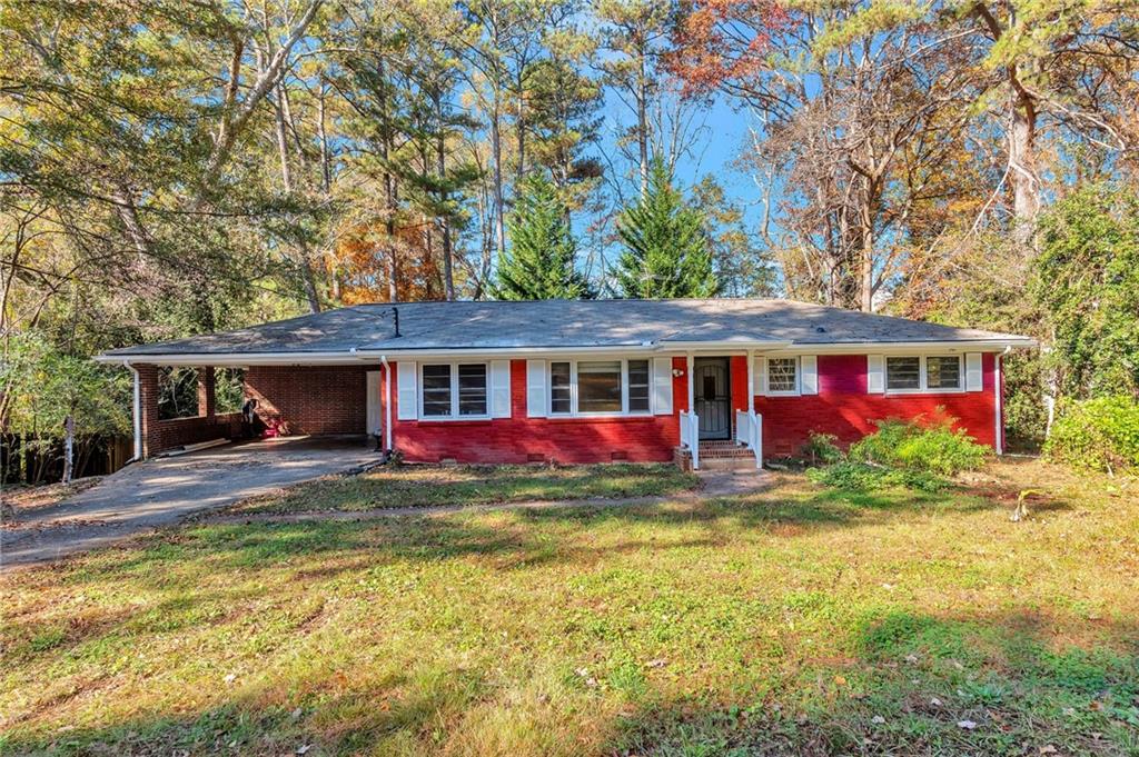
M 597 299 L 354 305 L 235 331 L 114 349 L 107 357 L 403 349 L 1023 340 L 788 299 Z

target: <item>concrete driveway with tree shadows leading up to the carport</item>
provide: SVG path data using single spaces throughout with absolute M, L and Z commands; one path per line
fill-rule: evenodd
M 257 494 L 359 470 L 379 454 L 359 438 L 286 437 L 134 463 L 0 530 L 0 568 L 110 544 Z

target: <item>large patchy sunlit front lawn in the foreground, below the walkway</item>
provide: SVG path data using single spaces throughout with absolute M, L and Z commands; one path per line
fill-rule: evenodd
M 0 751 L 1134 754 L 1136 486 L 968 485 L 196 525 L 13 571 Z

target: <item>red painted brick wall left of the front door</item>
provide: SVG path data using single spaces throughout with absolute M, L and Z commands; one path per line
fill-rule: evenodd
M 683 369 L 683 359 L 673 368 Z M 393 376 L 395 367 L 392 367 Z M 680 439 L 678 413 L 688 404 L 686 377 L 673 378 L 671 415 L 629 418 L 527 418 L 526 361 L 510 361 L 510 418 L 470 421 L 399 420 L 392 409 L 393 444 L 409 462 L 633 462 L 672 460 Z M 393 386 L 393 389 L 395 387 Z M 393 398 L 395 393 L 393 392 Z

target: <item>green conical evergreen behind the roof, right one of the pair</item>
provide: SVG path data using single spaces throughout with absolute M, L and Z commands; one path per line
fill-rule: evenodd
M 645 196 L 617 219 L 617 236 L 625 248 L 616 272 L 622 296 L 712 297 L 719 291 L 704 219 L 672 187 L 659 158 L 649 166 Z

